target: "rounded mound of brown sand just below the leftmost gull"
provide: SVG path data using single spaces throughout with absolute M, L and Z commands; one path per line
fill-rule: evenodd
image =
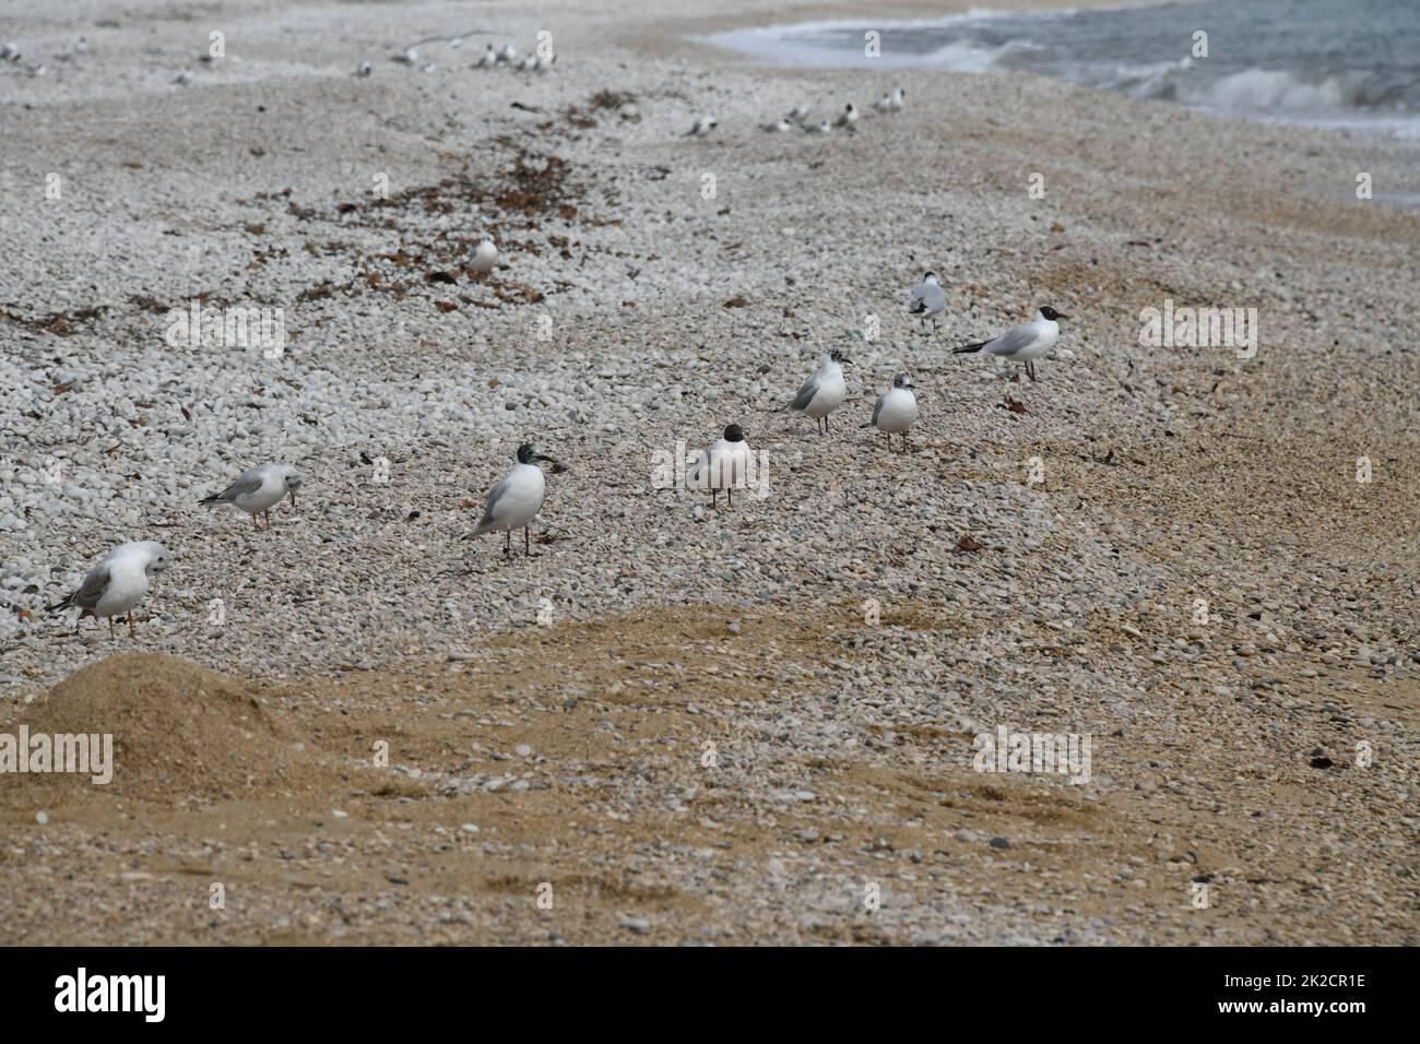
M 88 773 L 7 773 L 9 805 L 85 803 L 116 797 L 180 803 L 287 790 L 311 750 L 263 709 L 254 686 L 173 656 L 111 656 L 57 685 L 4 727 L 21 736 L 112 736 L 112 778 Z M 33 749 L 33 746 L 31 746 Z M 57 760 L 57 758 L 55 758 Z

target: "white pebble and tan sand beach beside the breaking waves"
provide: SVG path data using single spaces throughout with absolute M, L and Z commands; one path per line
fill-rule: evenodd
M 849 6 L 13 14 L 0 730 L 118 753 L 0 776 L 0 940 L 1420 940 L 1420 213 L 1355 192 L 1420 197 L 1413 142 L 700 41 Z M 1255 351 L 1143 344 L 1166 303 Z M 953 355 L 1042 304 L 1039 381 Z M 733 510 L 666 479 L 728 423 Z M 524 442 L 567 469 L 504 558 L 460 538 Z M 197 506 L 267 460 L 270 531 Z M 126 540 L 136 638 L 44 611 Z M 981 771 L 1000 727 L 1089 778 Z

